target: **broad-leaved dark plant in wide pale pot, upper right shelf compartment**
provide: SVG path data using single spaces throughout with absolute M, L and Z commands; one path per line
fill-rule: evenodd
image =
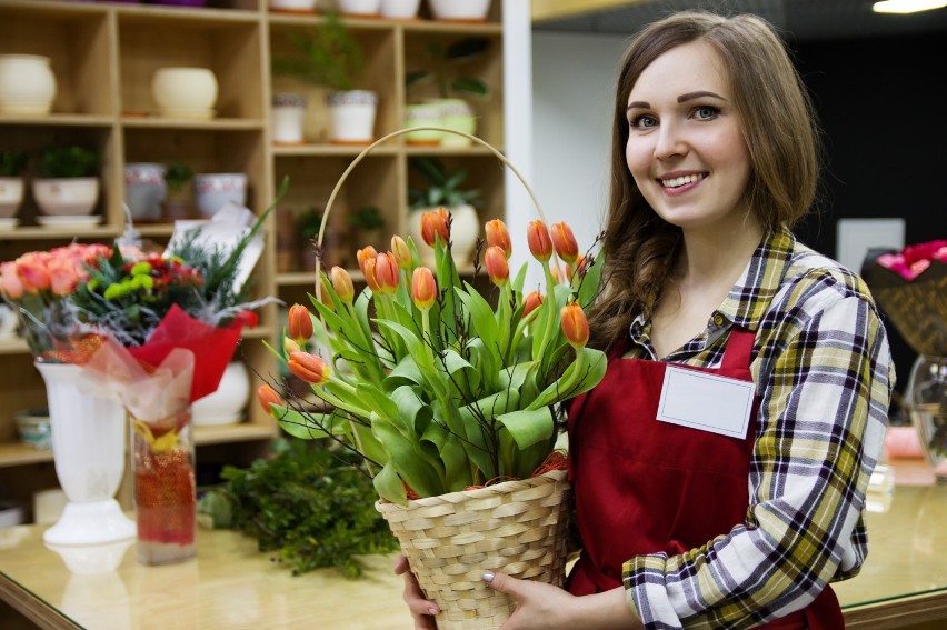
M 433 90 L 436 98 L 425 103 L 408 106 L 406 127 L 429 123 L 436 118 L 440 127 L 456 129 L 474 134 L 477 131 L 477 118 L 468 98 L 486 98 L 490 88 L 486 81 L 472 74 L 460 74 L 458 68 L 482 58 L 490 48 L 485 37 L 467 37 L 451 44 L 431 41 L 425 48 L 425 57 L 430 68 L 412 70 L 405 76 L 406 89 L 420 92 L 429 86 L 427 93 Z M 442 134 L 441 144 L 467 146 L 470 140 L 455 133 Z

